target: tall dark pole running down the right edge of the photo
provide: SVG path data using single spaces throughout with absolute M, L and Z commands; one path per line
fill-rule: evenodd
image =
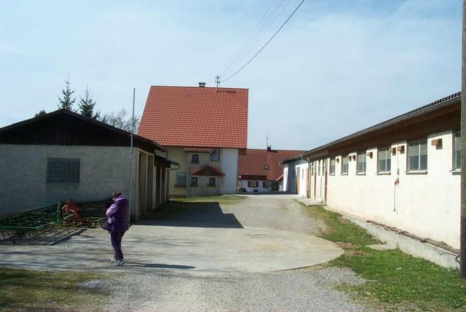
M 461 58 L 461 167 L 466 165 L 466 0 L 463 0 L 463 54 Z M 461 170 L 460 275 L 466 278 L 466 168 Z

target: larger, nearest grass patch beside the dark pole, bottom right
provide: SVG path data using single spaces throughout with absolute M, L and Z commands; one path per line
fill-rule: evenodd
M 345 253 L 330 263 L 349 267 L 368 280 L 360 286 L 343 286 L 363 298 L 377 298 L 390 306 L 415 306 L 427 311 L 466 310 L 466 280 L 449 270 L 399 249 Z

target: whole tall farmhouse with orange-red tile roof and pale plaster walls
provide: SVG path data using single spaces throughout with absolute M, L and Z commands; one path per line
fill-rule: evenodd
M 180 164 L 169 171 L 171 197 L 210 196 L 235 193 L 247 126 L 247 89 L 153 85 L 138 134 Z

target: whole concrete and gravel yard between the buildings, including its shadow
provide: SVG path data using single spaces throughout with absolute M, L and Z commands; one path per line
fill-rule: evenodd
M 181 202 L 132 225 L 123 267 L 109 263 L 109 236 L 100 229 L 52 245 L 0 245 L 0 265 L 110 273 L 117 282 L 89 287 L 114 291 L 112 311 L 363 310 L 333 289 L 361 282 L 354 273 L 309 268 L 343 253 L 313 236 L 322 226 L 293 196 Z

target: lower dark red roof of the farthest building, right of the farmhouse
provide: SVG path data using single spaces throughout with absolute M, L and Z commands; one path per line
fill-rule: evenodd
M 283 173 L 280 162 L 302 153 L 304 151 L 246 149 L 245 155 L 238 156 L 238 175 L 266 176 L 268 181 L 275 181 Z M 268 165 L 267 170 L 265 165 Z

